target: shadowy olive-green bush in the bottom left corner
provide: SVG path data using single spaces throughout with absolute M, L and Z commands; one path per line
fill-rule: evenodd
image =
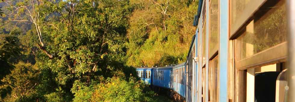
M 11 70 L 11 74 L 2 79 L 3 82 L 9 84 L 0 85 L 1 89 L 4 89 L 3 87 L 8 88 L 7 85 L 11 88 L 10 94 L 2 92 L 2 95 L 6 96 L 8 94 L 5 100 L 17 101 L 32 99 L 31 101 L 33 101 L 34 99 L 38 99 L 35 90 L 39 83 L 38 76 L 39 71 L 36 69 L 36 66 L 23 62 L 17 63 L 15 68 Z

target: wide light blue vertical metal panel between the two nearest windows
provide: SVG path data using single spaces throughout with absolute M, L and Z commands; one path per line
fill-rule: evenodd
M 229 0 L 220 0 L 219 102 L 227 101 Z

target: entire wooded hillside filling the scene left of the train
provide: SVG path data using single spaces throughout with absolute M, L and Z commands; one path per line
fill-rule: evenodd
M 171 101 L 134 67 L 185 61 L 194 0 L 0 1 L 0 101 Z

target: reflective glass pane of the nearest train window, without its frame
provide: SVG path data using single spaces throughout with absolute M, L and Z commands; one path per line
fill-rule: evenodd
M 285 0 L 266 2 L 237 38 L 237 60 L 286 41 Z

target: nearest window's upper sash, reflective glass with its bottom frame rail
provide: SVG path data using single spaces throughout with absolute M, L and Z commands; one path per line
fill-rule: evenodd
M 285 0 L 266 1 L 241 29 L 235 44 L 238 68 L 287 55 L 285 5 Z

